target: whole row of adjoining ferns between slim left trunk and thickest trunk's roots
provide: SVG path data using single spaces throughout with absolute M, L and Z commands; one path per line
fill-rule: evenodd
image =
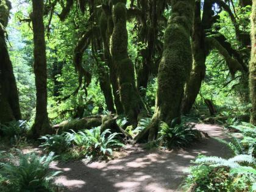
M 65 132 L 61 135 L 45 135 L 40 138 L 44 142 L 40 145 L 45 151 L 54 151 L 60 154 L 60 158 L 70 158 L 87 155 L 90 158 L 107 158 L 113 155 L 113 148 L 124 146 L 116 136 L 119 133 L 111 133 L 106 129 L 101 133 L 101 127 L 85 129 L 79 132 Z

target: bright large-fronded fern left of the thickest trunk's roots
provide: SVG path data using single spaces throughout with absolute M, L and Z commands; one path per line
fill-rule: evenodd
M 113 148 L 123 147 L 124 144 L 116 140 L 119 133 L 111 133 L 110 129 L 101 133 L 101 127 L 73 133 L 74 143 L 85 148 L 90 158 L 107 158 L 112 156 Z

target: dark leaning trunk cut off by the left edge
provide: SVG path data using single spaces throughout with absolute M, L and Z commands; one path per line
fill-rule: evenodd
M 12 62 L 5 42 L 5 27 L 11 9 L 10 1 L 0 1 L 0 123 L 20 120 L 20 103 Z

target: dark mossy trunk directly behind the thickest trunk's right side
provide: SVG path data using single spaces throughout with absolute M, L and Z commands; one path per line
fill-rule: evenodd
M 193 28 L 193 69 L 190 73 L 190 79 L 187 82 L 185 95 L 182 103 L 182 113 L 188 114 L 196 101 L 197 94 L 200 91 L 202 80 L 205 77 L 205 48 L 204 48 L 204 30 L 201 21 L 201 1 L 196 1 L 194 12 Z

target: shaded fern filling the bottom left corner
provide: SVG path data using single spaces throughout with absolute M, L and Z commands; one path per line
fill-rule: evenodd
M 2 191 L 54 191 L 52 179 L 60 171 L 49 171 L 54 153 L 38 157 L 36 154 L 18 154 L 18 164 L 5 163 L 1 168 L 0 181 Z

